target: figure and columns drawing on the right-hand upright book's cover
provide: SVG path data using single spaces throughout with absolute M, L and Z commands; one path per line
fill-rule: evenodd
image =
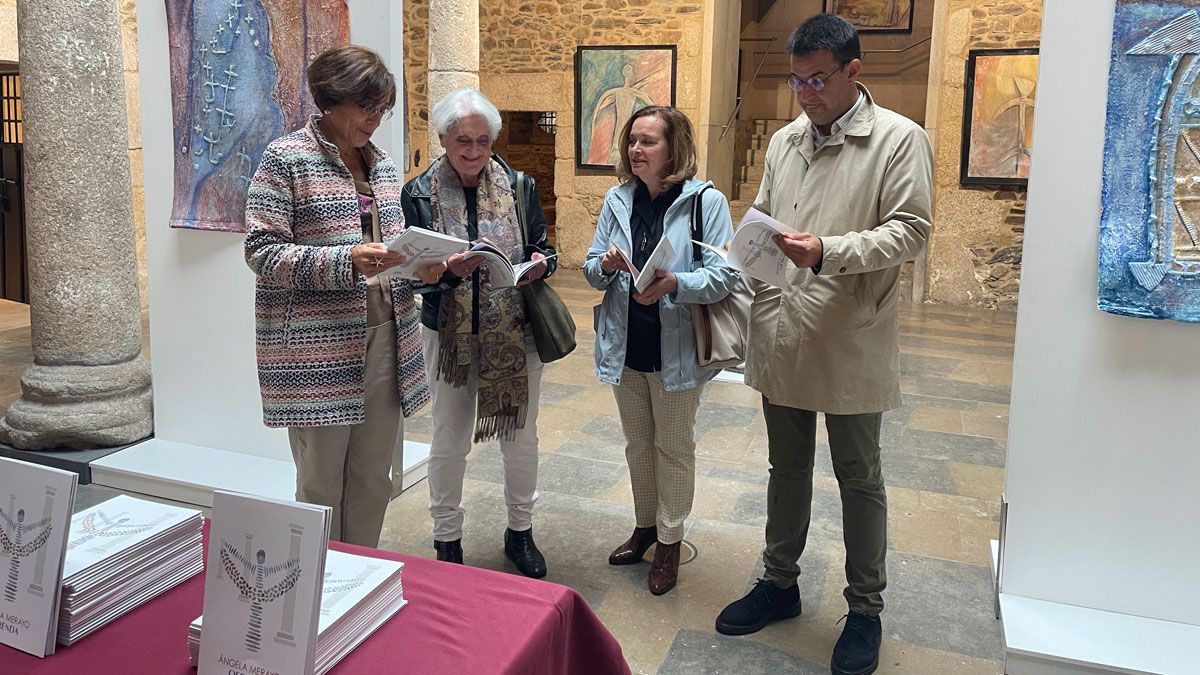
M 228 542 L 221 542 L 221 571 L 224 578 L 238 589 L 242 602 L 250 603 L 250 617 L 246 625 L 246 649 L 257 652 L 263 645 L 263 607 L 286 597 L 278 631 L 274 640 L 281 645 L 295 645 L 293 625 L 295 622 L 295 596 L 290 595 L 300 579 L 300 539 L 304 528 L 292 525 L 292 549 L 288 557 L 269 562 L 266 550 L 258 549 L 251 560 L 253 549 L 252 534 L 246 534 L 245 548 L 239 551 Z M 274 558 L 272 558 L 274 560 Z M 270 586 L 268 586 L 270 581 Z

